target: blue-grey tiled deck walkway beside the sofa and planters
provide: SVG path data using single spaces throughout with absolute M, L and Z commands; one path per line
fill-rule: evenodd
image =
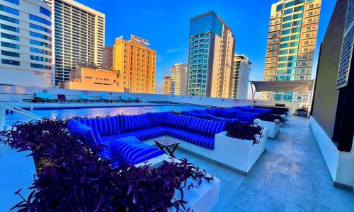
M 183 151 L 176 151 L 176 157 L 188 158 L 221 179 L 213 211 L 354 211 L 354 192 L 333 187 L 304 117 L 290 117 L 280 134 L 268 139 L 267 151 L 247 176 Z

